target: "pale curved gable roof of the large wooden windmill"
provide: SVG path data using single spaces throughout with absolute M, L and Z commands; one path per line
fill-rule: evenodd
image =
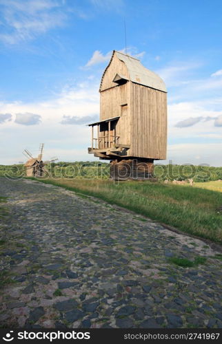
M 129 75 L 130 75 L 130 81 L 132 81 L 133 83 L 137 83 L 140 85 L 144 85 L 144 86 L 148 86 L 148 87 L 151 87 L 154 89 L 158 89 L 159 91 L 167 92 L 167 89 L 165 87 L 165 83 L 161 79 L 161 77 L 159 75 L 157 75 L 156 73 L 152 72 L 150 69 L 147 69 L 146 67 L 144 67 L 138 58 L 134 58 L 130 55 L 123 54 L 122 52 L 117 52 L 116 50 L 113 51 L 112 58 L 113 58 L 114 54 L 117 55 L 119 60 L 121 60 L 121 61 L 123 61 L 123 63 L 125 63 L 125 65 L 128 69 Z M 112 61 L 112 58 L 110 60 L 110 63 Z M 110 63 L 109 63 L 109 65 L 110 65 Z M 106 71 L 106 69 L 105 69 L 105 71 Z M 104 74 L 105 74 L 105 72 L 104 72 Z

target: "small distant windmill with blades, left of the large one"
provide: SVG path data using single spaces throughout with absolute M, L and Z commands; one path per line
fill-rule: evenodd
M 34 158 L 28 149 L 23 151 L 23 154 L 26 155 L 29 160 L 26 162 L 25 169 L 27 177 L 43 177 L 44 173 L 47 172 L 46 168 L 44 167 L 49 162 L 53 162 L 58 160 L 57 158 L 52 158 L 52 160 L 47 160 L 43 162 L 43 147 L 44 144 L 41 143 L 39 147 L 39 155 L 37 158 Z

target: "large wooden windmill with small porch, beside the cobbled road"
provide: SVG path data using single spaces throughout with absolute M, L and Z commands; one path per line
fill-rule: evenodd
M 154 160 L 166 158 L 165 83 L 137 58 L 114 50 L 99 92 L 100 120 L 90 124 L 88 153 L 111 160 L 114 179 L 149 178 Z

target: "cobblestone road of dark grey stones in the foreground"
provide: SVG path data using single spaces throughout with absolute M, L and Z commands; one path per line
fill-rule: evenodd
M 0 178 L 0 195 L 1 327 L 222 327 L 222 262 L 205 242 L 31 180 Z

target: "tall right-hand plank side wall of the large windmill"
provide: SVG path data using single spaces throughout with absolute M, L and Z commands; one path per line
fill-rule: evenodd
M 131 83 L 132 149 L 135 157 L 165 159 L 167 103 L 165 92 Z

